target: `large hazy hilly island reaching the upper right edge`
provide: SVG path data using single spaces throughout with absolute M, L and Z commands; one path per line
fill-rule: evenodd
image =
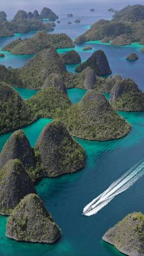
M 143 43 L 144 5 L 124 7 L 115 13 L 112 20 L 99 20 L 88 31 L 76 38 L 76 43 L 87 41 L 112 40 L 113 45 L 128 45 L 131 42 Z

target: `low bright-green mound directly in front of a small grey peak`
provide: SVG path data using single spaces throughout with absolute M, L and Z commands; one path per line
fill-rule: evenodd
M 67 94 L 52 86 L 40 90 L 27 103 L 34 109 L 37 118 L 53 118 L 57 111 L 67 109 L 71 105 Z

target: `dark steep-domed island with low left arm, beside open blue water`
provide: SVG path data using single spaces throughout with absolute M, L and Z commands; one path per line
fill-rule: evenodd
M 77 72 L 81 72 L 86 67 L 92 68 L 96 75 L 108 75 L 112 73 L 110 70 L 109 62 L 107 60 L 104 51 L 95 51 L 91 57 L 89 57 L 85 62 L 76 67 Z

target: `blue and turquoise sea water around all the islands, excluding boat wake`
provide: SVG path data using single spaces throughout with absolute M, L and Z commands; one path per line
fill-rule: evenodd
M 1 9 L 7 11 L 12 18 L 17 9 L 34 10 L 42 9 L 48 5 L 48 1 L 20 1 L 1 0 Z M 55 32 L 67 32 L 73 39 L 82 34 L 88 26 L 99 18 L 110 19 L 109 7 L 120 9 L 127 4 L 136 4 L 137 1 L 57 1 L 49 0 L 49 7 L 59 14 L 60 24 L 57 24 Z M 144 4 L 144 1 L 139 1 Z M 90 13 L 90 8 L 95 8 L 95 13 Z M 73 13 L 74 17 L 82 18 L 80 24 L 67 25 L 67 13 Z M 73 21 L 73 20 L 72 20 Z M 0 47 L 10 40 L 18 37 L 29 37 L 34 32 L 16 35 L 13 38 L 0 39 Z M 83 52 L 85 45 L 92 45 L 92 51 Z M 143 56 L 139 43 L 128 47 L 113 47 L 101 45 L 99 42 L 89 42 L 76 45 L 76 50 L 81 54 L 82 60 L 87 59 L 95 49 L 103 49 L 110 62 L 113 74 L 119 73 L 123 77 L 134 78 L 142 90 L 143 86 Z M 139 54 L 139 60 L 128 62 L 125 56 L 131 52 Z M 62 53 L 63 50 L 59 49 Z M 0 64 L 21 67 L 32 56 L 15 56 L 7 53 L 0 59 Z M 27 59 L 26 59 L 27 58 Z M 67 66 L 69 71 L 74 71 L 73 65 Z M 32 97 L 30 90 L 16 89 L 25 99 Z M 31 94 L 32 93 L 32 94 Z M 73 103 L 81 100 L 85 90 L 69 89 L 68 96 Z M 105 94 L 109 98 L 109 94 Z M 82 210 L 93 198 L 106 190 L 112 181 L 124 174 L 135 163 L 144 157 L 144 112 L 126 113 L 119 112 L 132 125 L 128 136 L 122 139 L 107 142 L 91 142 L 76 139 L 87 153 L 87 163 L 83 170 L 58 178 L 45 178 L 37 184 L 38 195 L 43 199 L 46 208 L 51 212 L 62 229 L 62 238 L 56 244 L 33 244 L 10 240 L 5 236 L 7 218 L 0 216 L 0 256 L 115 256 L 122 255 L 114 247 L 104 243 L 101 239 L 104 233 L 126 214 L 133 211 L 144 213 L 143 181 L 142 177 L 127 191 L 117 196 L 104 207 L 98 214 L 91 217 L 82 216 Z M 34 146 L 43 127 L 51 122 L 51 119 L 40 119 L 23 130 Z M 0 150 L 9 139 L 11 133 L 0 136 Z

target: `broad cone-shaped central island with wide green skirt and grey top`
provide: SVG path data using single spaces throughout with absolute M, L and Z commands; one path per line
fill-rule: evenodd
M 107 141 L 125 136 L 131 130 L 102 93 L 88 90 L 78 104 L 59 114 L 72 136 Z

